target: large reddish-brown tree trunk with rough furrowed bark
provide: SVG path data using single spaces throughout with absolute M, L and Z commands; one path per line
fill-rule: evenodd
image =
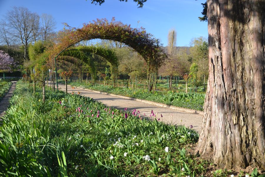
M 265 1 L 208 0 L 209 78 L 198 153 L 265 169 Z

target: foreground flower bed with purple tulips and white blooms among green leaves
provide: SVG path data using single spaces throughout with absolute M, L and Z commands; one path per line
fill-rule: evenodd
M 208 163 L 186 151 L 198 140 L 190 128 L 140 119 L 88 97 L 46 94 L 42 103 L 39 88 L 33 94 L 17 83 L 0 127 L 0 176 L 205 173 Z

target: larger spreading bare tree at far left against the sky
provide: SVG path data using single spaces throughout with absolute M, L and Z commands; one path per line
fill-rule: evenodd
M 24 60 L 28 60 L 28 44 L 37 40 L 39 15 L 25 7 L 13 7 L 1 23 L 1 37 L 7 45 L 22 44 Z

